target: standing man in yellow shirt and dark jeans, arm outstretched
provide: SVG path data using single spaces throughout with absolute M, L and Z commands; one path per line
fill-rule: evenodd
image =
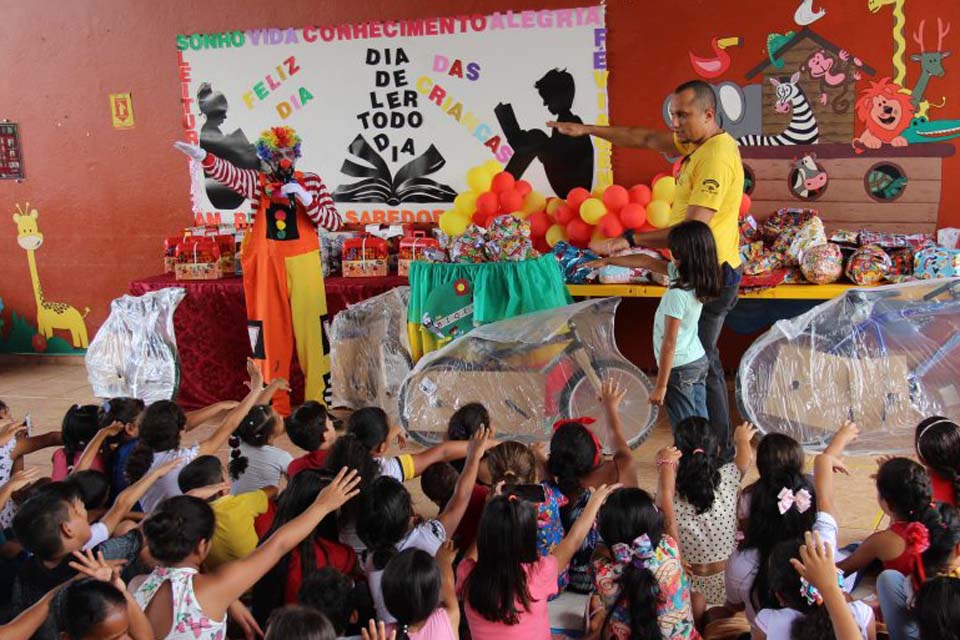
M 568 122 L 548 122 L 568 136 L 593 135 L 613 144 L 651 149 L 671 155 L 681 153 L 683 162 L 677 176 L 670 226 L 650 233 L 627 231 L 620 238 L 594 242 L 590 248 L 610 255 L 629 247 L 666 247 L 670 229 L 684 220 L 699 220 L 710 226 L 717 243 L 717 257 L 723 271 L 723 292 L 703 305 L 699 337 L 707 352 L 707 412 L 723 458 L 733 460 L 730 409 L 727 385 L 720 363 L 717 340 L 727 314 L 737 303 L 742 267 L 740 264 L 740 200 L 743 198 L 743 164 L 736 141 L 716 120 L 717 99 L 702 80 L 686 82 L 674 91 L 670 101 L 672 131 L 641 127 L 599 127 Z

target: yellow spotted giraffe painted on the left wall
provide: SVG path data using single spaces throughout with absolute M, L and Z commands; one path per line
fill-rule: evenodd
M 37 305 L 36 334 L 41 339 L 33 340 L 34 350 L 43 351 L 44 349 L 37 347 L 45 346 L 47 341 L 54 338 L 56 331 L 69 332 L 73 349 L 86 349 L 89 341 L 85 318 L 90 308 L 84 308 L 81 313 L 69 304 L 52 302 L 47 299 L 40 284 L 36 253 L 43 244 L 43 233 L 40 232 L 38 225 L 39 215 L 36 208 L 31 208 L 29 203 L 24 206 L 18 204 L 17 211 L 13 214 L 13 221 L 17 225 L 17 245 L 27 253 L 30 281 Z M 22 324 L 22 318 L 20 320 Z M 17 321 L 18 318 L 14 317 L 15 325 Z

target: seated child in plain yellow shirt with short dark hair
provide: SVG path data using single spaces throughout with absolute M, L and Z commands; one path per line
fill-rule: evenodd
M 260 539 L 254 530 L 254 520 L 267 510 L 267 502 L 277 495 L 276 487 L 264 487 L 249 493 L 230 494 L 230 481 L 223 473 L 223 463 L 216 456 L 194 458 L 177 475 L 180 491 L 191 493 L 209 488 L 206 498 L 213 509 L 217 527 L 210 540 L 210 553 L 204 568 L 216 569 L 221 564 L 246 558 Z

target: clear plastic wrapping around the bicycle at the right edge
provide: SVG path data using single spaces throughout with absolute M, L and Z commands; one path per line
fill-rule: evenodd
M 960 278 L 851 289 L 777 322 L 737 375 L 740 411 L 819 449 L 845 419 L 854 453 L 913 453 L 921 420 L 960 420 Z

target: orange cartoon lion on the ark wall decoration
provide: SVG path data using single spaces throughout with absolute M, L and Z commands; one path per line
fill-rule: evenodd
M 854 148 L 858 143 L 867 149 L 879 149 L 884 143 L 894 147 L 907 146 L 902 134 L 910 126 L 913 115 L 910 95 L 901 93 L 900 85 L 891 82 L 890 78 L 871 82 L 857 99 L 857 119 L 863 123 L 864 129 L 859 138 L 854 138 Z

